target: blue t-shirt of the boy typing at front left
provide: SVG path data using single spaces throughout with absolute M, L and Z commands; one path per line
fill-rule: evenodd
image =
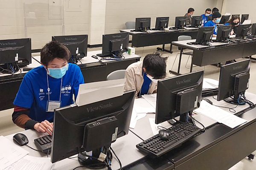
M 33 68 L 23 77 L 20 89 L 13 102 L 14 105 L 30 108 L 29 117 L 35 121 L 48 120 L 53 122 L 53 112 L 47 112 L 47 76 L 49 81 L 50 101 L 59 101 L 61 94 L 61 107 L 74 103 L 78 94 L 80 84 L 84 84 L 84 77 L 78 65 L 70 64 L 66 74 L 61 79 L 55 79 L 47 75 L 44 66 Z

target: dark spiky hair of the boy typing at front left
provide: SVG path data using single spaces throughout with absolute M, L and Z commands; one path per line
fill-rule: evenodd
M 67 47 L 58 41 L 51 41 L 47 43 L 41 50 L 41 62 L 45 66 L 48 66 L 48 63 L 55 58 L 68 61 L 70 56 L 70 51 Z

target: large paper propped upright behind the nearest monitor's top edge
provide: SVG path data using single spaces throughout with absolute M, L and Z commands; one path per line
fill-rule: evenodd
M 78 106 L 122 96 L 126 79 L 92 82 L 79 85 L 76 99 Z

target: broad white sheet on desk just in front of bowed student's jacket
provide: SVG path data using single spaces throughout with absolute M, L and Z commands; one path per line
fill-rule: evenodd
M 136 113 L 156 113 L 156 109 L 144 98 L 134 100 L 134 109 Z

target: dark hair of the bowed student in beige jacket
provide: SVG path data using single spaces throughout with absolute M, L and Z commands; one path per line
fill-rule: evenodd
M 145 73 L 154 77 L 154 79 L 163 79 L 166 77 L 166 61 L 168 57 L 161 57 L 160 53 L 154 52 L 147 54 L 143 59 L 143 68 Z

